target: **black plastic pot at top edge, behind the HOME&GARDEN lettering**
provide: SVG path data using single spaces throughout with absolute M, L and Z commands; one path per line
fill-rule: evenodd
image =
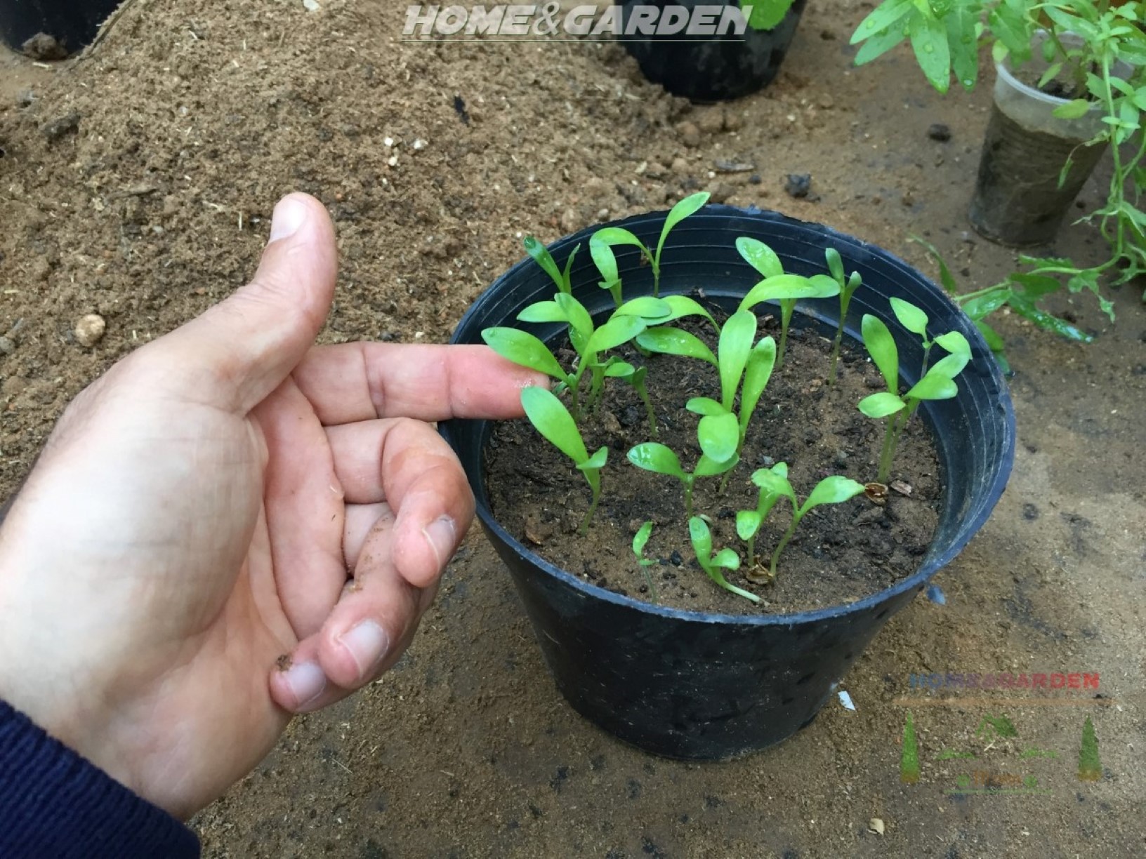
M 673 95 L 697 102 L 738 98 L 762 89 L 776 77 L 795 36 L 807 0 L 795 0 L 772 30 L 747 27 L 743 36 L 625 36 L 622 44 L 641 71 Z M 661 9 L 683 7 L 690 15 L 697 6 L 740 6 L 738 0 L 626 0 L 622 19 L 628 23 L 634 6 Z M 744 2 L 744 6 L 751 6 Z M 665 13 L 662 11 L 661 15 Z

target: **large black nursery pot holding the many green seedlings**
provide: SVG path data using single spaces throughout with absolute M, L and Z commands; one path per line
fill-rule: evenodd
M 664 220 L 660 212 L 617 224 L 654 245 Z M 581 245 L 572 270 L 573 293 L 597 315 L 609 313 L 612 299 L 597 286 L 598 275 L 586 250 L 595 229 L 563 238 L 550 251 L 564 266 L 573 247 Z M 786 270 L 803 275 L 823 271 L 824 250 L 835 247 L 847 270 L 858 270 L 864 283 L 848 310 L 848 337 L 858 339 L 864 314 L 880 317 L 896 338 L 904 368 L 918 368 L 923 355 L 919 339 L 892 314 L 887 299 L 893 295 L 920 307 L 933 331 L 961 331 L 971 342 L 973 360 L 959 376 L 958 396 L 920 409 L 935 436 L 947 488 L 935 538 L 909 578 L 857 602 L 788 615 L 711 615 L 622 597 L 534 554 L 494 519 L 482 470 L 492 424 L 442 425 L 473 488 L 481 525 L 513 576 L 562 694 L 618 738 L 675 758 L 731 758 L 808 725 L 887 618 L 910 602 L 987 521 L 1014 458 L 1011 397 L 975 325 L 937 286 L 878 247 L 771 212 L 707 206 L 669 236 L 661 294 L 696 294 L 700 287 L 708 301 L 735 309 L 760 279 L 737 253 L 738 236 L 766 242 Z M 650 268 L 639 265 L 636 251 L 617 250 L 626 298 L 650 294 Z M 536 263 L 519 262 L 473 304 L 453 341 L 477 344 L 485 328 L 523 325 L 516 322 L 517 314 L 550 299 L 554 289 Z M 793 324 L 834 328 L 838 307 L 835 301 L 801 307 L 803 322 Z M 542 339 L 560 334 L 557 325 L 528 328 Z M 906 376 L 906 383 L 915 381 Z

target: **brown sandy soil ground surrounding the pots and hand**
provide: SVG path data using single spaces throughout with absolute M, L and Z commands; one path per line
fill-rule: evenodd
M 991 71 L 974 94 L 940 97 L 905 47 L 850 68 L 848 36 L 871 3 L 813 0 L 774 86 L 697 109 L 642 82 L 615 46 L 407 45 L 401 5 L 319 6 L 135 0 L 86 58 L 0 63 L 0 333 L 14 345 L 0 356 L 5 490 L 80 388 L 250 275 L 272 206 L 292 189 L 316 194 L 338 227 L 327 341 L 445 340 L 520 257 L 518 231 L 552 239 L 693 188 L 829 223 L 932 270 L 908 242 L 921 234 L 968 290 L 1014 262 L 965 220 Z M 29 87 L 33 97 L 18 97 Z M 928 136 L 935 123 L 950 140 Z M 754 163 L 762 183 L 715 172 L 733 159 Z M 785 195 L 793 173 L 811 174 L 807 198 Z M 1086 184 L 1083 205 L 1100 199 L 1106 175 Z M 1093 261 L 1100 238 L 1072 227 L 1054 250 Z M 1116 295 L 1116 325 L 1090 300 L 1057 299 L 1100 334 L 1091 346 L 999 320 L 1017 371 L 1011 484 L 936 576 L 945 605 L 917 599 L 847 676 L 854 711 L 832 701 L 798 736 L 730 764 L 623 747 L 557 695 L 474 531 L 400 665 L 297 719 L 195 819 L 206 854 L 1140 856 L 1139 297 Z M 83 348 L 71 332 L 93 312 L 108 333 Z M 1099 672 L 1105 698 L 1036 706 L 944 691 L 963 700 L 937 706 L 909 688 L 912 672 L 948 671 Z M 900 780 L 904 699 L 916 785 Z M 981 722 L 1002 714 L 1018 736 Z M 1097 782 L 1076 778 L 1088 716 Z M 976 774 L 1036 778 L 1046 793 L 949 793 Z

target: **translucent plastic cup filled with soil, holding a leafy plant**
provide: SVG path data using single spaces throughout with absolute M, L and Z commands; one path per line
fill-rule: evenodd
M 1037 45 L 1034 53 L 1036 58 L 1022 68 L 1037 80 L 1046 63 Z M 1105 127 L 1102 108 L 1096 103 L 1078 119 L 1060 119 L 1053 113 L 1067 98 L 1023 84 L 1004 63 L 996 71 L 971 223 L 984 238 L 1012 247 L 1047 244 L 1106 152 L 1105 144 L 1085 145 Z M 1070 171 L 1060 186 L 1068 158 Z

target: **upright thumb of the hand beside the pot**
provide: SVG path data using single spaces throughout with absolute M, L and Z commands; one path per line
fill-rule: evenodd
M 156 340 L 152 354 L 162 350 L 168 367 L 189 370 L 198 396 L 245 415 L 314 344 L 337 273 L 335 228 L 325 207 L 306 194 L 283 197 L 251 282 Z

